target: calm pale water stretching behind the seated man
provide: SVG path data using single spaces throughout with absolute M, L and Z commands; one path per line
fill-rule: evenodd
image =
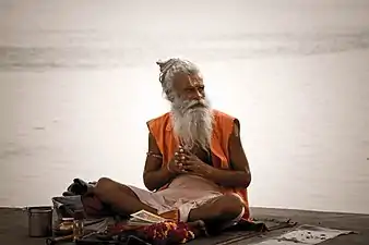
M 253 206 L 369 213 L 369 4 L 159 3 L 0 2 L 0 206 L 143 187 L 155 61 L 181 56 L 241 121 Z

